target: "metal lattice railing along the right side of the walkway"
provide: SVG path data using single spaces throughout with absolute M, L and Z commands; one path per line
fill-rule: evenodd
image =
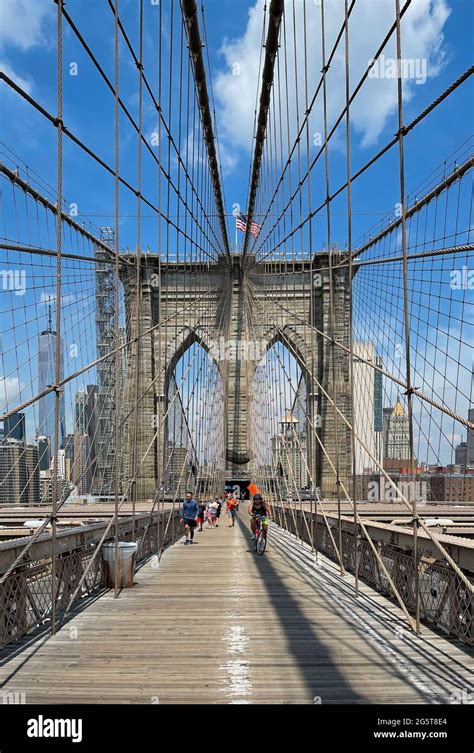
M 317 517 L 317 519 L 316 519 Z M 284 530 L 298 537 L 299 541 L 314 547 L 315 552 L 321 552 L 335 562 L 339 561 L 338 551 L 334 545 L 337 538 L 338 520 L 335 516 L 328 517 L 326 525 L 323 516 L 305 512 L 290 507 L 275 507 L 275 521 Z M 379 531 L 371 529 L 371 539 L 377 547 L 380 559 L 386 573 L 395 584 L 398 593 L 411 614 L 415 614 L 416 583 L 419 583 L 420 619 L 433 623 L 444 632 L 456 636 L 463 642 L 474 643 L 474 598 L 472 590 L 459 578 L 452 568 L 441 559 L 420 554 L 416 565 L 413 559 L 413 538 L 411 546 L 404 542 L 403 547 L 390 543 L 387 538 L 389 526 L 380 526 Z M 396 528 L 391 526 L 392 537 Z M 352 529 L 352 530 L 351 530 Z M 398 529 L 398 533 L 400 529 Z M 470 543 L 470 542 L 469 542 Z M 468 542 L 460 542 L 458 547 L 466 548 L 466 562 L 470 567 L 464 567 L 463 572 L 470 584 L 474 583 L 473 553 Z M 357 547 L 357 553 L 356 553 Z M 451 543 L 451 551 L 453 547 Z M 458 558 L 459 559 L 459 558 Z M 374 555 L 367 539 L 360 528 L 354 532 L 350 518 L 344 519 L 342 532 L 342 561 L 344 569 L 358 575 L 364 583 L 368 583 L 378 592 L 394 599 L 393 590 L 384 570 L 380 567 L 378 558 Z

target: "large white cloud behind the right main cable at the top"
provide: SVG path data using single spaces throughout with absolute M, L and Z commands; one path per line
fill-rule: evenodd
M 235 155 L 240 151 L 248 152 L 252 146 L 253 124 L 257 88 L 259 87 L 258 70 L 262 51 L 263 6 L 265 0 L 256 0 L 250 9 L 245 33 L 238 39 L 224 40 L 221 54 L 226 63 L 226 70 L 221 71 L 215 79 L 215 92 L 218 104 L 221 143 L 226 150 Z M 317 3 L 306 4 L 307 50 L 308 50 L 308 93 L 309 101 L 320 79 L 321 57 L 321 9 Z M 446 61 L 443 47 L 442 30 L 449 16 L 447 0 L 413 0 L 402 19 L 402 57 L 419 66 L 426 66 L 427 78 L 436 76 Z M 326 5 L 326 57 L 344 18 L 343 0 L 331 0 Z M 358 0 L 350 19 L 350 77 L 351 89 L 358 83 L 362 73 L 383 40 L 394 20 L 393 0 Z M 284 45 L 279 50 L 278 66 L 275 68 L 273 97 L 275 103 L 281 96 L 282 120 L 286 123 L 286 106 L 288 90 L 289 131 L 293 144 L 297 132 L 297 118 L 304 116 L 305 81 L 304 81 L 304 30 L 303 3 L 295 3 L 295 25 L 293 26 L 293 9 L 285 16 L 285 29 L 280 30 L 280 41 L 284 41 L 286 32 L 286 69 L 288 88 L 285 77 Z M 298 71 L 298 103 L 296 102 L 295 65 Z M 395 58 L 394 35 L 384 51 L 386 58 Z M 417 77 L 419 70 L 415 69 Z M 236 75 L 237 74 L 237 75 Z M 345 61 L 343 40 L 339 44 L 327 76 L 328 84 L 328 120 L 329 128 L 344 105 Z M 416 78 L 404 80 L 404 98 L 411 99 L 416 90 L 421 88 Z M 395 79 L 371 78 L 366 82 L 354 104 L 351 106 L 351 122 L 359 134 L 363 146 L 375 143 L 382 133 L 387 119 L 396 111 L 397 86 Z M 279 116 L 278 116 L 279 117 Z M 322 97 L 318 96 L 310 117 L 310 133 L 323 131 Z M 286 143 L 286 133 L 284 134 Z

